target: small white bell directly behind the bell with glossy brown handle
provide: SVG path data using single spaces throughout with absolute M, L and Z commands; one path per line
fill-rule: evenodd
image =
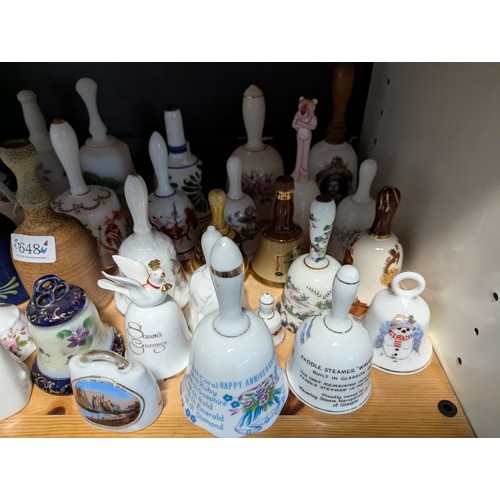
M 377 162 L 364 160 L 359 166 L 358 189 L 343 198 L 337 206 L 327 253 L 340 262 L 344 260 L 349 242 L 373 222 L 375 200 L 370 196 L 370 189 L 376 173 Z

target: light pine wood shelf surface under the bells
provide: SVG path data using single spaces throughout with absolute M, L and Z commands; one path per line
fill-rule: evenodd
M 269 291 L 279 298 L 279 288 L 260 284 L 251 275 L 245 280 L 249 305 L 257 307 L 260 295 Z M 123 316 L 114 302 L 102 313 L 104 322 L 123 334 Z M 277 347 L 280 365 L 285 366 L 294 335 L 287 331 Z M 31 366 L 35 354 L 26 363 Z M 158 420 L 147 429 L 134 433 L 109 432 L 88 425 L 80 415 L 73 396 L 51 396 L 33 387 L 31 400 L 17 414 L 0 421 L 0 437 L 17 438 L 205 438 L 210 433 L 192 424 L 184 415 L 179 386 L 182 374 L 160 383 L 165 406 Z M 458 413 L 446 417 L 438 402 L 455 403 Z M 284 414 L 286 413 L 286 414 Z M 265 432 L 251 438 L 367 438 L 367 437 L 475 437 L 474 432 L 437 360 L 422 372 L 394 375 L 372 370 L 372 394 L 364 406 L 345 415 L 329 415 L 298 403 L 291 395 L 277 421 Z

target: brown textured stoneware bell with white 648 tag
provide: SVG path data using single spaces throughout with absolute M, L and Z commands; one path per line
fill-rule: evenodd
M 11 237 L 12 263 L 26 291 L 47 274 L 56 274 L 85 290 L 98 310 L 113 294 L 97 286 L 101 262 L 90 233 L 74 217 L 54 212 L 50 195 L 36 174 L 36 150 L 27 140 L 0 144 L 0 158 L 16 176 L 17 199 L 25 217 Z

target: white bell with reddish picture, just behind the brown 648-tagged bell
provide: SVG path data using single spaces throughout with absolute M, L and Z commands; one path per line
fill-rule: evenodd
M 52 199 L 52 208 L 78 219 L 96 241 L 104 269 L 114 266 L 112 256 L 128 235 L 125 214 L 111 188 L 87 185 L 82 176 L 78 140 L 68 122 L 54 120 L 50 126 L 52 145 L 66 170 L 70 188 Z

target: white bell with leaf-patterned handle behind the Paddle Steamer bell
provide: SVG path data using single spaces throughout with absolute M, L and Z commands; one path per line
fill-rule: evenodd
M 326 254 L 326 247 L 334 219 L 333 198 L 318 195 L 311 204 L 310 251 L 292 262 L 279 305 L 283 324 L 293 333 L 309 315 L 332 306 L 332 283 L 340 262 Z

